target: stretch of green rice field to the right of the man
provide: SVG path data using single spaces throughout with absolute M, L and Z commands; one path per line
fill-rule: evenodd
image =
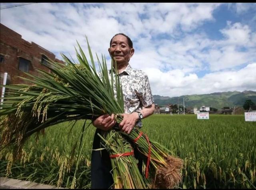
M 200 120 L 196 115 L 154 115 L 144 125 L 145 131 L 155 131 L 150 138 L 184 159 L 181 187 L 256 186 L 256 125 L 245 122 L 244 116 L 210 115 Z

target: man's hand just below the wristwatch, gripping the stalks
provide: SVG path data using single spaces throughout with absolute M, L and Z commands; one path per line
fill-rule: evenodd
M 132 114 L 122 114 L 122 117 L 123 120 L 119 124 L 119 129 L 124 133 L 130 134 L 139 119 L 139 115 L 137 112 L 133 112 Z

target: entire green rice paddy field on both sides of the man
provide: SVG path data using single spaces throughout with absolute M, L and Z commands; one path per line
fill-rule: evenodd
M 32 135 L 22 158 L 13 163 L 11 153 L 2 149 L 0 175 L 64 188 L 90 188 L 93 126 L 85 131 L 80 162 L 77 149 L 70 161 L 72 147 L 80 145 L 83 122 L 78 121 L 72 130 L 70 123 L 61 123 L 48 127 L 44 135 Z M 152 115 L 143 119 L 143 125 L 150 139 L 184 160 L 183 181 L 177 188 L 256 188 L 256 122 L 244 121 L 244 115 L 210 115 L 209 120 L 196 115 Z

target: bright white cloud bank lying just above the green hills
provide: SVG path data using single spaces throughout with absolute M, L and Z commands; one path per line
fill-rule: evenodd
M 206 74 L 202 78 L 194 73 L 185 75 L 181 70 L 162 72 L 158 69 L 146 69 L 153 94 L 162 96 L 182 96 L 208 94 L 225 91 L 256 90 L 256 63 L 247 65 L 238 71 L 223 71 Z

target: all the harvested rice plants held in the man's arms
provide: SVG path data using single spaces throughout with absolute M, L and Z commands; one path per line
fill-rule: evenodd
M 79 44 L 78 47 L 80 53 L 77 50 L 76 53 L 80 65 L 74 64 L 62 54 L 66 62 L 65 66 L 49 61 L 50 64 L 47 67 L 51 73 L 41 70 L 38 71 L 39 76 L 26 73 L 32 79 L 23 79 L 32 82 L 32 85 L 6 86 L 10 92 L 6 93 L 5 101 L 1 105 L 1 149 L 12 148 L 11 160 L 19 158 L 22 146 L 30 135 L 57 123 L 93 119 L 104 114 L 115 114 L 116 121 L 118 123 L 122 121 L 120 116 L 124 113 L 122 85 L 117 68 L 113 69 L 113 60 L 109 78 L 106 59 L 102 56 L 101 64 L 97 56 L 100 69 L 98 72 L 89 43 L 88 50 L 92 65 L 87 61 Z M 84 130 L 85 123 L 82 134 Z M 110 155 L 120 154 L 118 158 L 112 159 L 114 187 L 146 188 L 144 181 L 147 181 L 145 177 L 148 178 L 149 167 L 152 168 L 150 172 L 155 176 L 151 187 L 172 188 L 177 185 L 181 180 L 181 160 L 170 157 L 167 149 L 150 141 L 145 134 L 135 142 L 138 135 L 140 135 L 140 129 L 135 127 L 130 135 L 111 129 L 102 137 L 104 147 Z M 82 140 L 83 135 L 80 137 L 80 142 Z M 83 145 L 79 149 L 82 147 Z M 131 152 L 131 147 L 138 148 L 145 155 L 146 176 L 140 174 L 136 167 L 136 159 L 132 155 L 127 157 L 123 155 L 127 151 Z M 75 184 L 75 178 L 73 184 Z

